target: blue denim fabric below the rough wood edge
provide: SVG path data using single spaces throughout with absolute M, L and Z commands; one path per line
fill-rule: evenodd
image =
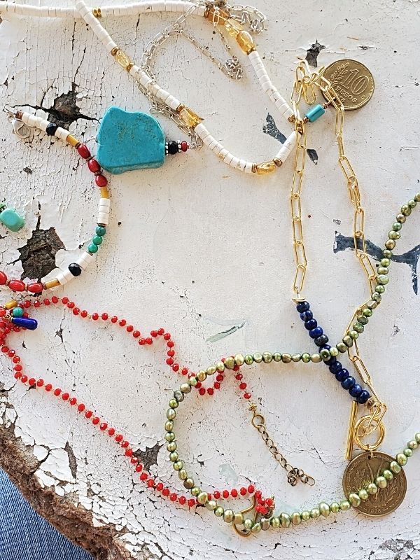
M 0 470 L 0 560 L 92 560 L 38 515 Z

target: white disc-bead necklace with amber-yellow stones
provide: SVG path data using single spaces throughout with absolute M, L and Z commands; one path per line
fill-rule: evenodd
M 149 99 L 155 100 L 161 106 L 163 104 L 170 114 L 176 116 L 181 130 L 189 130 L 190 134 L 195 134 L 195 137 L 199 137 L 202 143 L 208 146 L 226 165 L 245 173 L 267 174 L 273 172 L 277 167 L 281 167 L 293 151 L 293 148 L 295 148 L 295 130 L 290 132 L 276 155 L 268 161 L 260 163 L 248 162 L 233 155 L 207 130 L 207 127 L 202 124 L 202 118 L 197 116 L 194 111 L 189 109 L 188 106 L 174 97 L 174 95 L 160 87 L 144 69 L 134 64 L 130 57 L 113 41 L 109 32 L 104 29 L 104 26 L 99 21 L 102 17 L 118 18 L 142 13 L 168 12 L 181 14 L 181 17 L 182 15 L 199 15 L 209 19 L 215 26 L 223 26 L 230 36 L 236 38 L 239 47 L 248 56 L 262 91 L 269 97 L 281 116 L 293 124 L 296 118 L 295 113 L 269 78 L 262 59 L 255 48 L 252 36 L 244 30 L 237 20 L 230 17 L 231 14 L 228 10 L 228 6 L 216 8 L 214 6 L 206 6 L 204 3 L 182 0 L 147 0 L 123 6 L 102 6 L 100 8 L 91 8 L 83 0 L 77 0 L 75 7 L 40 7 L 8 1 L 0 3 L 0 14 L 41 18 L 83 18 L 102 42 L 106 51 L 113 55 L 118 64 L 127 73 L 130 73 L 130 76 L 134 78 Z

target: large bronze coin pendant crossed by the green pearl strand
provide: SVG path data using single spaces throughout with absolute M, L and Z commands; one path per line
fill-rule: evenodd
M 347 465 L 343 475 L 343 489 L 346 496 L 351 492 L 358 492 L 363 486 L 374 482 L 381 472 L 388 468 L 394 458 L 386 453 L 372 451 L 362 453 L 353 458 Z M 381 517 L 397 509 L 405 498 L 407 479 L 401 470 L 398 475 L 388 481 L 386 488 L 381 488 L 376 494 L 361 501 L 356 510 L 370 517 Z

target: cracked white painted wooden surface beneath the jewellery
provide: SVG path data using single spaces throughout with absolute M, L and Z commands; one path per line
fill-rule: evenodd
M 316 39 L 326 47 L 319 64 L 354 57 L 372 70 L 374 97 L 365 109 L 346 117 L 346 146 L 360 177 L 367 237 L 380 246 L 400 204 L 419 190 L 419 3 L 374 0 L 344 6 L 303 0 L 289 3 L 286 17 L 279 15 L 274 0 L 258 1 L 258 8 L 269 16 L 269 31 L 258 44 L 282 92 L 290 90 L 297 57 L 304 57 Z M 142 16 L 139 25 L 134 18 L 106 21 L 106 26 L 139 59 L 146 41 L 171 20 Z M 199 27 L 195 20 L 192 27 L 211 48 L 218 48 L 209 26 Z M 272 107 L 261 101 L 248 66 L 242 83 L 228 83 L 181 41 L 176 48 L 165 48 L 158 66 L 162 85 L 197 109 L 226 146 L 257 160 L 277 147 L 262 134 Z M 78 86 L 80 113 L 93 119 L 101 118 L 110 104 L 148 109 L 80 22 L 1 22 L 4 102 L 48 109 L 72 83 Z M 97 201 L 91 177 L 59 141 L 36 133 L 24 144 L 10 134 L 5 116 L 0 118 L 1 195 L 27 219 L 22 232 L 0 239 L 2 267 L 9 274 L 22 272 L 18 248 L 35 228 L 38 203 L 41 228 L 55 227 L 66 246 L 57 254 L 57 264 L 71 262 L 92 231 Z M 162 124 L 169 137 L 180 138 L 172 125 Z M 92 138 L 97 120 L 80 118 L 70 130 Z M 89 144 L 94 147 L 94 141 Z M 319 160 L 316 166 L 307 163 L 304 183 L 304 216 L 311 216 L 304 224 L 311 263 L 306 295 L 337 340 L 353 307 L 364 301 L 366 288 L 353 254 L 332 252 L 336 231 L 351 235 L 351 206 L 335 165 L 332 116 L 311 127 L 308 145 Z M 203 150 L 173 158 L 158 170 L 113 178 L 111 223 L 97 267 L 73 281 L 67 295 L 79 307 L 130 318 L 144 332 L 164 326 L 176 339 L 181 363 L 193 369 L 237 351 L 310 349 L 289 298 L 291 163 L 273 177 L 257 179 L 227 169 Z M 25 167 L 32 174 L 22 171 Z M 417 212 L 402 232 L 398 251 L 419 243 Z M 384 303 L 361 342 L 377 391 L 388 402 L 383 450 L 391 453 L 420 426 L 419 309 L 409 267 L 393 265 Z M 40 328 L 25 334 L 20 350 L 27 370 L 75 391 L 123 429 L 135 447 L 162 444 L 165 402 L 179 384 L 167 371 L 163 353 L 139 348 L 116 328 L 83 323 L 61 309 L 36 316 Z M 228 337 L 211 338 L 242 323 Z M 62 340 L 56 335 L 60 327 Z M 22 337 L 16 343 L 22 344 Z M 0 400 L 0 423 L 14 423 L 16 437 L 34 447 L 43 461 L 37 471 L 40 484 L 55 486 L 60 496 L 67 494 L 90 510 L 94 526 L 116 526 L 120 540 L 138 559 L 147 554 L 162 560 L 420 558 L 419 458 L 407 468 L 407 498 L 390 517 L 374 520 L 351 512 L 240 539 L 207 510 L 189 513 L 149 492 L 133 479 L 127 462 L 103 434 L 51 395 L 15 386 L 3 358 L 1 367 L 9 393 L 7 403 Z M 293 464 L 314 475 L 316 486 L 286 487 L 283 470 L 251 429 L 246 407 L 228 380 L 217 398 L 190 397 L 181 408 L 177 431 L 183 457 L 193 465 L 190 470 L 205 487 L 258 480 L 265 493 L 276 495 L 282 510 L 341 496 L 349 411 L 344 391 L 322 365 L 254 367 L 247 377 L 279 447 Z M 66 444 L 76 458 L 74 478 Z M 181 490 L 164 451 L 151 470 Z

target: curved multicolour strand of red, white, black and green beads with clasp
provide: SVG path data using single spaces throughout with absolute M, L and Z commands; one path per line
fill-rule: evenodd
M 67 267 L 66 270 L 60 270 L 57 276 L 47 281 L 29 281 L 25 283 L 20 279 L 8 279 L 5 272 L 0 272 L 0 286 L 7 286 L 13 292 L 29 293 L 32 295 L 39 295 L 44 290 L 56 288 L 57 286 L 64 286 L 67 282 L 76 276 L 80 276 L 89 265 L 95 260 L 95 255 L 104 241 L 106 234 L 106 225 L 109 221 L 110 210 L 110 197 L 108 190 L 108 180 L 102 174 L 102 169 L 97 160 L 92 158 L 89 149 L 85 144 L 82 144 L 73 134 L 68 130 L 57 126 L 55 123 L 50 123 L 41 117 L 25 113 L 24 111 L 15 111 L 13 109 L 5 109 L 8 113 L 8 118 L 13 122 L 14 130 L 21 138 L 29 136 L 29 127 L 38 128 L 45 132 L 48 136 L 54 136 L 62 140 L 65 144 L 69 144 L 76 148 L 80 158 L 87 162 L 87 168 L 94 174 L 94 182 L 99 188 L 99 207 L 97 211 L 97 225 L 94 231 L 92 241 L 87 246 L 87 249 L 80 255 L 80 257 Z M 16 126 L 17 125 L 17 126 Z M 8 304 L 6 304 L 7 306 Z

